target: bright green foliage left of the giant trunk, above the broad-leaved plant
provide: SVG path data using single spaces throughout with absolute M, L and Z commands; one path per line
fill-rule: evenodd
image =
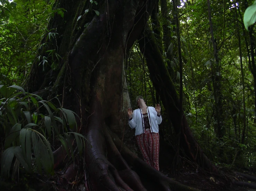
M 49 36 L 47 43 L 53 40 L 57 33 L 47 30 L 48 21 L 55 14 L 64 16 L 64 9 L 52 10 L 54 0 L 15 0 L 0 3 L 0 84 L 20 85 L 30 71 L 38 51 L 38 42 L 45 34 Z M 45 44 L 46 45 L 46 44 Z M 56 69 L 61 57 L 56 50 L 42 56 L 42 63 L 53 59 L 51 67 Z

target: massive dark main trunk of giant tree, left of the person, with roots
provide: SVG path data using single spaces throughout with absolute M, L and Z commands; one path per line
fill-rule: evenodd
M 129 106 L 129 96 L 127 91 L 123 91 L 123 61 L 144 30 L 157 1 L 99 0 L 96 5 L 89 1 L 73 0 L 72 6 L 69 2 L 56 1 L 56 6 L 63 6 L 68 12 L 65 12 L 63 21 L 56 15 L 49 23 L 50 28 L 56 27 L 56 32 L 61 34 L 56 39 L 62 56 L 60 69 L 52 71 L 47 67 L 42 71 L 35 61 L 27 86 L 32 91 L 46 92 L 42 94 L 50 94 L 49 97 L 61 94 L 62 106 L 80 116 L 81 119 L 77 120 L 78 131 L 87 138 L 85 163 L 94 190 L 145 190 L 147 184 L 152 185 L 148 190 L 191 190 L 147 165 L 119 139 L 127 123 L 124 115 Z M 87 9 L 90 10 L 85 13 Z M 99 16 L 94 10 L 99 11 Z M 56 20 L 60 22 L 60 28 Z M 41 53 L 46 53 L 44 51 Z M 152 71 L 150 73 L 154 75 Z M 46 87 L 50 88 L 45 90 Z M 162 93 L 160 90 L 158 92 Z M 168 108 L 168 98 L 164 99 Z M 175 113 L 177 108 L 170 107 L 168 110 Z M 183 129 L 184 134 L 195 142 L 191 132 L 187 133 L 185 118 L 183 123 L 187 127 Z M 196 142 L 192 147 L 198 150 Z M 142 184 L 128 164 L 140 177 L 154 181 Z M 141 173 L 143 171 L 145 173 Z

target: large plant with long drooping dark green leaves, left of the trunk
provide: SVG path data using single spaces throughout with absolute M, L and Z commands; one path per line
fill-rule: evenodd
M 19 86 L 1 85 L 0 98 L 0 132 L 4 136 L 1 175 L 9 176 L 11 167 L 13 172 L 17 170 L 18 166 L 13 166 L 15 157 L 27 172 L 38 170 L 42 173 L 43 168 L 44 172 L 53 174 L 50 142 L 54 138 L 62 143 L 73 159 L 72 139 L 76 140 L 78 151 L 82 153 L 85 137 L 70 131 L 77 131 L 74 112 L 56 108 L 51 101 L 26 93 Z

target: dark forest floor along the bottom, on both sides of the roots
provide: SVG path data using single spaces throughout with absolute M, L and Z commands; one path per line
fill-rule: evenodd
M 161 170 L 161 169 L 160 169 Z M 192 167 L 192 165 L 184 165 L 183 168 L 179 169 L 179 173 L 170 173 L 171 170 L 169 168 L 165 168 L 165 170 L 161 170 L 167 177 L 178 181 L 184 185 L 189 187 L 197 188 L 201 191 L 256 191 L 256 189 L 251 189 L 247 187 L 239 187 L 236 184 L 232 183 L 234 181 L 238 182 L 246 182 L 246 183 L 255 183 L 256 181 L 249 181 L 247 178 L 242 177 L 238 174 L 237 171 L 230 170 L 230 168 L 219 168 L 221 171 L 221 175 L 214 175 L 209 172 L 203 171 L 200 168 L 196 168 L 196 166 Z M 251 176 L 255 176 L 255 173 L 250 171 L 241 171 L 241 173 L 249 174 Z M 77 177 L 77 176 L 75 176 Z M 37 184 L 37 186 L 33 185 L 33 189 L 28 189 L 28 187 L 24 187 L 24 182 L 16 182 L 16 185 L 13 185 L 12 189 L 4 189 L 4 186 L 1 185 L 0 181 L 0 191 L 25 191 L 25 190 L 48 190 L 48 191 L 67 191 L 67 190 L 78 190 L 85 191 L 84 186 L 84 177 L 77 177 L 76 181 L 63 181 L 58 173 L 55 174 L 51 179 L 47 177 L 38 175 L 36 177 L 27 177 L 30 185 Z M 1 180 L 1 179 L 0 179 Z M 38 181 L 40 180 L 40 181 Z M 149 185 L 148 180 L 141 180 L 142 183 L 145 183 L 145 188 L 148 190 L 158 191 L 159 188 L 152 188 L 152 185 Z M 34 182 L 34 183 L 32 183 Z M 76 182 L 76 183 L 75 183 Z M 27 182 L 28 183 L 28 182 Z M 8 184 L 8 183 L 7 183 Z M 8 186 L 9 187 L 9 186 Z M 9 187 L 10 188 L 10 187 Z M 39 189 L 40 188 L 40 189 Z M 160 191 L 160 190 L 159 190 Z

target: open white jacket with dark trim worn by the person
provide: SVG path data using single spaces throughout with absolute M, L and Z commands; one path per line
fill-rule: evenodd
M 162 116 L 157 116 L 157 112 L 154 107 L 147 107 L 149 115 L 150 131 L 158 133 L 158 125 L 162 122 Z M 135 128 L 135 136 L 144 133 L 144 120 L 142 117 L 142 110 L 135 109 L 133 111 L 132 120 L 129 120 L 129 126 Z

